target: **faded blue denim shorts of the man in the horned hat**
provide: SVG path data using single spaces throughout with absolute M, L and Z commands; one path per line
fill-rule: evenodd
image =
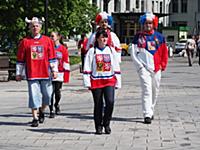
M 29 108 L 39 108 L 42 105 L 49 105 L 53 92 L 51 80 L 29 80 Z

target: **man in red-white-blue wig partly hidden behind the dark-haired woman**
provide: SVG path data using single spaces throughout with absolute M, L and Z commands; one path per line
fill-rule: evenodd
M 107 45 L 110 47 L 113 47 L 116 50 L 119 62 L 121 62 L 120 41 L 119 41 L 119 38 L 117 37 L 117 35 L 111 30 L 112 16 L 110 16 L 106 12 L 100 12 L 96 15 L 95 22 L 97 25 L 96 32 L 100 29 L 104 29 L 107 32 L 107 34 L 108 34 Z M 94 46 L 96 32 L 94 32 L 90 36 L 88 43 L 87 43 L 87 49 Z

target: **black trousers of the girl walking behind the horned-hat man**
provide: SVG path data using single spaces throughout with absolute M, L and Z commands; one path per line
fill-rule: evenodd
M 51 104 L 49 105 L 50 111 L 53 111 L 54 96 L 55 96 L 54 106 L 57 107 L 59 105 L 59 102 L 60 102 L 60 99 L 61 99 L 62 84 L 63 84 L 63 82 L 52 81 L 53 93 L 52 93 L 52 96 L 51 96 Z

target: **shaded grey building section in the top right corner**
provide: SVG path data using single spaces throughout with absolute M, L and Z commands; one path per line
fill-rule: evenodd
M 200 0 L 171 0 L 169 25 L 200 34 Z

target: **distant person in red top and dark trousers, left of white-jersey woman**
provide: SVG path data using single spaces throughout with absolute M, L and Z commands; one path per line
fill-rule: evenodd
M 85 33 L 81 34 L 81 39 L 78 42 L 78 50 L 81 53 L 81 71 L 83 71 L 84 68 L 84 59 L 85 59 L 85 55 L 87 53 L 87 42 L 88 42 L 88 38 L 86 37 Z

